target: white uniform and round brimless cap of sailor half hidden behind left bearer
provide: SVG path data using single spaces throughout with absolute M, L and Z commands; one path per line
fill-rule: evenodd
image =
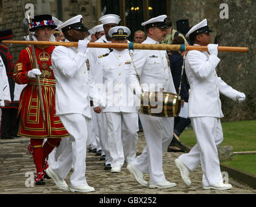
M 106 25 L 109 23 L 118 24 L 121 21 L 120 17 L 115 14 L 107 14 L 99 18 L 102 25 Z M 106 36 L 102 36 L 100 39 L 95 41 L 95 43 L 111 43 L 106 39 Z M 93 76 L 93 80 L 95 85 L 98 86 L 99 92 L 102 93 L 102 83 L 103 83 L 103 74 L 102 71 L 99 70 L 99 56 L 102 54 L 107 54 L 110 52 L 110 49 L 107 48 L 89 48 L 88 59 L 90 64 L 90 71 Z M 93 122 L 97 123 L 94 125 L 95 131 L 98 130 L 100 142 L 102 143 L 102 154 L 106 156 L 106 165 L 111 164 L 111 155 L 108 144 L 108 136 L 107 135 L 107 124 L 106 124 L 106 116 L 104 113 L 96 114 L 93 113 Z

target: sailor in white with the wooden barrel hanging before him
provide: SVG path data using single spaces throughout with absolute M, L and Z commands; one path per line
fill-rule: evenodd
M 166 35 L 166 18 L 166 15 L 162 15 L 141 24 L 145 26 L 148 36 L 143 44 L 159 44 L 163 41 Z M 128 78 L 130 83 L 137 85 L 135 86 L 137 96 L 141 94 L 141 87 L 143 91 L 176 93 L 167 59 L 167 52 L 164 50 L 134 50 L 134 63 L 131 65 Z M 136 74 L 139 75 L 141 86 Z M 141 112 L 139 118 L 145 134 L 146 147 L 132 164 L 128 164 L 128 170 L 143 186 L 148 186 L 148 182 L 144 180 L 144 173 L 150 174 L 149 188 L 176 186 L 174 182 L 165 179 L 163 172 L 163 152 L 167 150 L 172 140 L 174 118 L 150 116 Z

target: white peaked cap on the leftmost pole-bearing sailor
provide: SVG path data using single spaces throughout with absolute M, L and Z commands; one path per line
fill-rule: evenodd
M 82 15 L 72 17 L 71 19 L 65 21 L 62 25 L 59 26 L 59 30 L 62 30 L 62 32 L 67 31 L 71 28 L 76 30 L 87 30 L 87 28 L 84 27 Z

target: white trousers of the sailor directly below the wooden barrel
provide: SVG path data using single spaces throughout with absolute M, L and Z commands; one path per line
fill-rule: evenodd
M 150 184 L 165 181 L 163 173 L 163 153 L 172 141 L 173 117 L 149 116 L 139 112 L 143 126 L 146 147 L 132 163 L 144 173 L 150 173 Z

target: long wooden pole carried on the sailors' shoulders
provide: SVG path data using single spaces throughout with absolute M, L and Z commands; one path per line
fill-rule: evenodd
M 65 47 L 78 47 L 78 42 L 73 42 L 73 41 L 7 41 L 7 40 L 4 40 L 3 43 L 24 44 L 24 45 L 52 45 L 52 46 L 63 45 Z M 129 44 L 130 43 L 89 43 L 88 47 L 128 49 Z M 132 44 L 133 44 L 132 48 L 138 49 L 138 50 L 180 51 L 180 48 L 181 48 L 181 45 L 139 44 L 139 43 L 132 43 Z M 207 46 L 187 45 L 185 47 L 185 50 L 186 51 L 189 51 L 189 50 L 207 51 Z M 218 51 L 248 52 L 249 48 L 218 46 Z

